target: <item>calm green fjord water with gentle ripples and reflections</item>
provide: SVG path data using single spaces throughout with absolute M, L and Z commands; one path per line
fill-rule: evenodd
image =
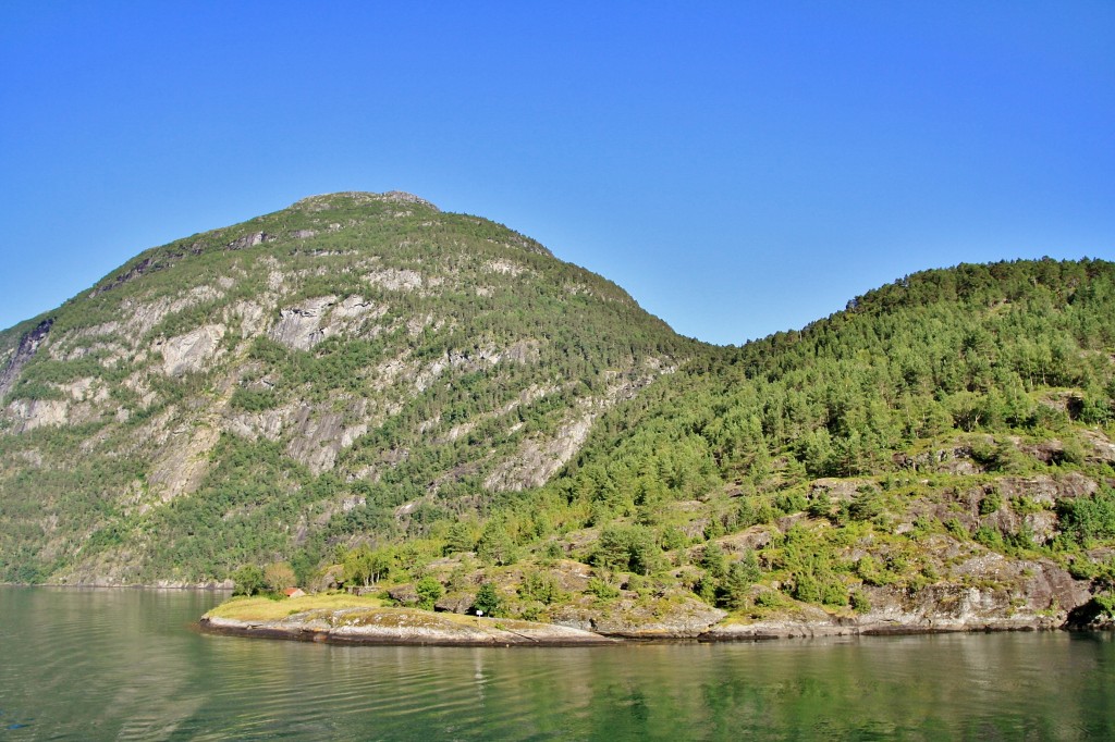
M 0 740 L 1115 739 L 1109 634 L 331 646 L 222 597 L 0 587 Z

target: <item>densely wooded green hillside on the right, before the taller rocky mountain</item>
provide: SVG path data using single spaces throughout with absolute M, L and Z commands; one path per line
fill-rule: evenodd
M 1111 263 L 911 275 L 711 349 L 506 523 L 691 589 L 725 635 L 1109 621 L 1113 350 Z

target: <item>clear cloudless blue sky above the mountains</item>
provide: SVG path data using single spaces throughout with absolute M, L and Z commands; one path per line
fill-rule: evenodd
M 1115 258 L 1115 2 L 0 3 L 0 328 L 311 194 L 529 234 L 717 343 Z

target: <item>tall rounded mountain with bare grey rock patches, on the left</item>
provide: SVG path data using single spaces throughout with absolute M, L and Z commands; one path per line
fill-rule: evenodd
M 694 343 L 415 196 L 149 250 L 0 334 L 0 579 L 197 582 L 545 482 Z

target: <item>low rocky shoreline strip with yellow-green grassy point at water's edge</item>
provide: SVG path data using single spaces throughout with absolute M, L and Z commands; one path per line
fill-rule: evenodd
M 1048 584 L 1045 585 L 1048 589 Z M 1059 585 L 1060 590 L 1080 589 Z M 1054 590 L 1059 592 L 1059 590 Z M 1041 594 L 1043 590 L 1037 590 Z M 950 632 L 1111 628 L 1106 614 L 1083 604 L 1036 609 L 1029 601 L 986 587 L 928 587 L 918 595 L 876 590 L 863 613 L 785 605 L 764 615 L 728 615 L 699 602 L 640 605 L 621 597 L 607 608 L 566 606 L 551 623 L 384 605 L 338 594 L 272 601 L 235 598 L 205 614 L 201 628 L 217 634 L 338 644 L 434 646 L 589 646 L 623 642 L 733 642 L 820 636 L 880 636 Z M 1040 599 L 1053 595 L 1044 593 Z M 696 604 L 696 605 L 695 605 Z M 1047 604 L 1047 605 L 1049 605 Z M 700 609 L 698 609 L 700 608 Z

